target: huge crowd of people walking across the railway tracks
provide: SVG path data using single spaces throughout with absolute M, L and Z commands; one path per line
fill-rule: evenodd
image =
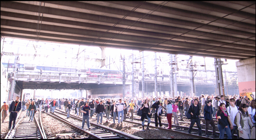
M 22 106 L 20 105 L 22 104 Z M 19 106 L 17 107 L 16 106 Z M 142 131 L 145 131 L 145 119 L 148 120 L 146 130 L 149 131 L 149 124 L 151 118 L 154 117 L 155 126 L 162 127 L 161 116 L 165 115 L 169 126 L 167 129 L 172 129 L 172 115 L 174 116 L 174 124 L 179 125 L 179 121 L 183 121 L 183 116 L 190 116 L 190 126 L 188 132 L 191 133 L 192 127 L 196 123 L 198 127 L 199 135 L 202 135 L 201 120 L 199 116 L 202 114 L 205 120 L 205 132 L 209 137 L 209 125 L 212 126 L 212 135 L 218 136 L 215 133 L 215 122 L 213 119 L 218 120 L 218 129 L 220 132 L 219 138 L 224 138 L 224 132 L 227 134 L 227 138 L 233 138 L 236 132 L 240 138 L 255 137 L 250 133 L 250 128 L 254 126 L 255 130 L 255 100 L 250 101 L 248 97 L 240 97 L 234 95 L 233 97 L 213 96 L 213 95 L 201 95 L 200 97 L 168 97 L 163 95 L 159 98 L 148 96 L 145 98 L 138 97 L 125 97 L 125 98 L 77 98 L 77 99 L 28 99 L 20 103 L 17 97 L 16 101 L 13 101 L 10 106 L 4 102 L 1 107 L 2 122 L 7 116 L 7 110 L 9 109 L 10 121 L 9 129 L 11 129 L 12 121 L 13 127 L 15 126 L 15 115 L 19 109 L 26 110 L 26 117 L 30 117 L 29 121 L 33 120 L 34 112 L 39 109 L 42 111 L 42 107 L 45 112 L 51 111 L 54 113 L 56 107 L 59 109 L 65 109 L 67 112 L 67 119 L 70 118 L 71 110 L 75 111 L 75 115 L 83 116 L 82 128 L 84 128 L 85 120 L 87 127 L 90 129 L 90 119 L 93 114 L 96 113 L 97 124 L 102 124 L 103 115 L 107 116 L 106 122 L 110 121 L 113 117 L 113 123 L 116 123 L 116 117 L 118 123 L 122 123 L 126 119 L 126 115 L 131 113 L 129 119 L 134 120 L 134 113 L 141 116 Z M 12 115 L 12 116 L 11 116 Z M 179 116 L 179 117 L 178 117 Z M 180 118 L 180 119 L 179 119 Z

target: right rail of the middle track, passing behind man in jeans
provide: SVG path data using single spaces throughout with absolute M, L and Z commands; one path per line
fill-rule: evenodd
M 60 114 L 62 114 L 62 115 L 67 115 L 67 113 L 65 113 L 64 111 L 61 111 L 61 110 L 59 110 L 59 109 L 55 109 L 55 110 L 58 110 L 58 111 L 59 111 L 58 113 L 60 113 Z M 63 112 L 63 113 L 61 113 L 61 112 Z M 70 117 L 71 117 L 71 118 L 74 118 L 74 119 L 77 119 L 77 120 L 81 120 L 81 121 L 83 120 L 83 119 L 77 118 L 76 116 L 71 115 L 71 114 L 70 114 Z M 115 133 L 115 134 L 118 134 L 118 135 L 120 135 L 120 136 L 122 136 L 122 137 L 126 137 L 126 138 L 128 138 L 128 139 L 142 139 L 141 137 L 137 137 L 137 136 L 134 136 L 134 135 L 131 135 L 131 134 L 127 134 L 127 133 L 121 132 L 121 131 L 116 130 L 116 129 L 112 129 L 112 128 L 107 127 L 107 126 L 103 126 L 103 125 L 96 124 L 96 123 L 94 123 L 94 122 L 90 122 L 90 123 L 91 123 L 93 126 L 97 126 L 97 127 L 99 127 L 99 128 L 108 130 L 108 131 L 110 131 L 110 132 L 113 132 L 113 133 Z

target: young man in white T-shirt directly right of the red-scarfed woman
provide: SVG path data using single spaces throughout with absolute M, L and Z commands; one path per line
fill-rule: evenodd
M 231 98 L 230 99 L 230 106 L 227 106 L 227 113 L 228 113 L 228 116 L 230 116 L 230 120 L 231 120 L 232 125 L 233 125 L 233 129 L 231 129 L 232 139 L 233 139 L 235 131 L 236 131 L 236 134 L 239 134 L 238 127 L 234 123 L 237 112 L 238 112 L 238 107 L 236 106 L 236 100 L 234 98 Z

